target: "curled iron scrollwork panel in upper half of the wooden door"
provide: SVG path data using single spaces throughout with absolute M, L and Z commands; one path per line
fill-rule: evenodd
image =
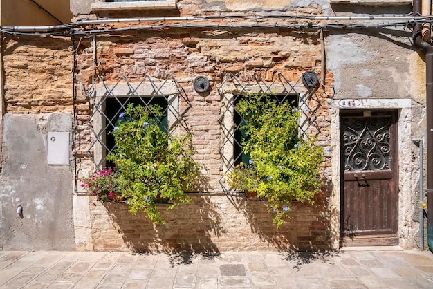
M 389 169 L 390 116 L 342 118 L 344 171 Z

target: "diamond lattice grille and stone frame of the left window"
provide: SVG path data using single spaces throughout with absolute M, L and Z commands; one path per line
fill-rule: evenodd
M 145 76 L 140 82 L 130 82 L 127 77 L 122 76 L 113 84 L 98 77 L 83 95 L 93 109 L 89 120 L 85 122 L 93 135 L 93 140 L 86 149 L 86 156 L 93 162 L 96 170 L 104 169 L 107 155 L 116 149 L 113 140 L 110 140 L 109 132 L 116 127 L 119 115 L 129 103 L 147 108 L 151 104 L 158 104 L 163 107 L 165 116 L 158 119 L 161 129 L 169 134 L 180 128 L 189 132 L 184 116 L 191 104 L 181 84 L 172 75 L 165 80 L 153 80 Z

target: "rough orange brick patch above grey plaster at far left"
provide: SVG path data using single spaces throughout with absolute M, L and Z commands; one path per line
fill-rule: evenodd
M 73 111 L 73 55 L 63 37 L 6 37 L 6 113 Z

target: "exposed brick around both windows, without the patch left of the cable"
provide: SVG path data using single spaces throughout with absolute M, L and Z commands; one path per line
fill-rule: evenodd
M 258 29 L 167 29 L 160 31 L 127 32 L 124 35 L 97 36 L 96 73 L 105 83 L 114 84 L 120 77 L 138 83 L 145 77 L 164 81 L 168 75 L 185 90 L 191 109 L 185 123 L 194 136 L 196 154 L 201 165 L 202 183 L 191 194 L 193 201 L 181 204 L 167 214 L 167 225 L 153 226 L 144 216 L 131 216 L 125 203 L 103 204 L 89 198 L 81 208 L 89 216 L 90 230 L 82 239 L 89 239 L 90 250 L 173 251 L 192 249 L 198 251 L 223 250 L 317 250 L 330 248 L 329 211 L 326 207 L 326 188 L 317 197 L 315 205 L 297 204 L 293 207 L 293 220 L 275 230 L 272 216 L 266 213 L 264 202 L 245 201 L 243 195 L 224 196 L 219 183 L 225 171 L 219 153 L 223 133 L 219 118 L 223 115 L 221 88 L 225 77 L 232 73 L 243 84 L 252 80 L 255 73 L 270 84 L 280 73 L 295 84 L 304 71 L 320 73 L 320 39 L 315 31 Z M 77 58 L 77 80 L 89 86 L 91 73 L 91 42 L 82 41 Z M 211 87 L 206 93 L 194 91 L 192 82 L 205 76 Z M 332 82 L 327 74 L 326 82 Z M 297 89 L 306 91 L 298 83 Z M 299 87 L 302 86 L 302 87 Z M 316 95 L 320 109 L 316 111 L 322 134 L 317 145 L 329 145 L 329 115 L 325 91 Z M 80 93 L 78 93 L 80 94 Z M 89 114 L 84 99 L 77 106 L 80 147 L 89 149 L 89 130 L 82 120 Z M 182 102 L 180 106 L 186 106 Z M 315 105 L 311 103 L 311 105 Z M 83 155 L 78 159 L 86 174 L 93 169 Z M 330 153 L 324 161 L 324 175 L 330 175 Z M 77 214 L 80 214 L 80 209 Z M 164 209 L 164 205 L 162 205 Z

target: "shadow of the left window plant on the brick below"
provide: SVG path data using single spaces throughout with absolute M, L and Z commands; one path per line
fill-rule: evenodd
M 145 214 L 131 216 L 126 203 L 104 203 L 110 222 L 118 228 L 127 248 L 132 252 L 199 252 L 217 254 L 212 241 L 225 234 L 221 216 L 209 196 L 193 198 L 190 203 L 167 210 L 158 205 L 166 225 L 153 225 Z

